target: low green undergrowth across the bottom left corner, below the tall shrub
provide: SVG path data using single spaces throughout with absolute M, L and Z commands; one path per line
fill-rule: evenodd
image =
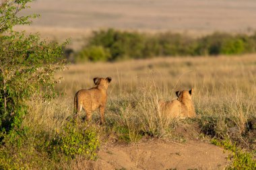
M 0 169 L 61 169 L 77 156 L 95 160 L 99 140 L 96 130 L 84 123 L 67 122 L 55 133 L 20 127 L 1 133 Z

